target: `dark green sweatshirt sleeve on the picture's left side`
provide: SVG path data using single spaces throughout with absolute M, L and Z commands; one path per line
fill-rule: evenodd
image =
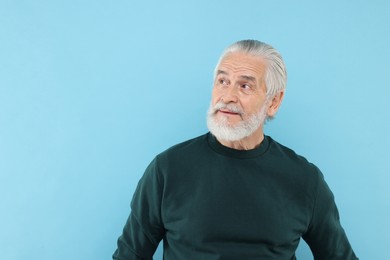
M 152 259 L 164 235 L 161 221 L 162 185 L 156 159 L 147 167 L 131 201 L 127 219 L 113 259 Z

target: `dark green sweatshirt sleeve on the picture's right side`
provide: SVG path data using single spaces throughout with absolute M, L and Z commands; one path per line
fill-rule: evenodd
M 340 224 L 333 193 L 319 170 L 312 219 L 303 239 L 316 260 L 358 259 Z

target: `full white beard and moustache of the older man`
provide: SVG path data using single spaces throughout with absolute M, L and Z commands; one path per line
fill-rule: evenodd
M 212 104 L 210 104 L 207 111 L 207 127 L 217 139 L 225 141 L 239 141 L 252 135 L 264 124 L 267 117 L 266 104 L 264 104 L 257 114 L 251 115 L 248 119 L 242 120 L 235 126 L 230 126 L 227 117 L 221 117 L 219 119 L 215 117 L 215 113 L 221 108 L 227 108 L 239 113 L 241 117 L 244 116 L 244 113 L 235 105 L 218 102 L 213 107 Z

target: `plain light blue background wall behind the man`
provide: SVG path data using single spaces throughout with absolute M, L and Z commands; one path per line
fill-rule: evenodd
M 144 168 L 207 131 L 214 65 L 246 38 L 287 64 L 266 133 L 321 168 L 358 256 L 390 259 L 389 14 L 385 0 L 1 0 L 0 259 L 111 259 Z

